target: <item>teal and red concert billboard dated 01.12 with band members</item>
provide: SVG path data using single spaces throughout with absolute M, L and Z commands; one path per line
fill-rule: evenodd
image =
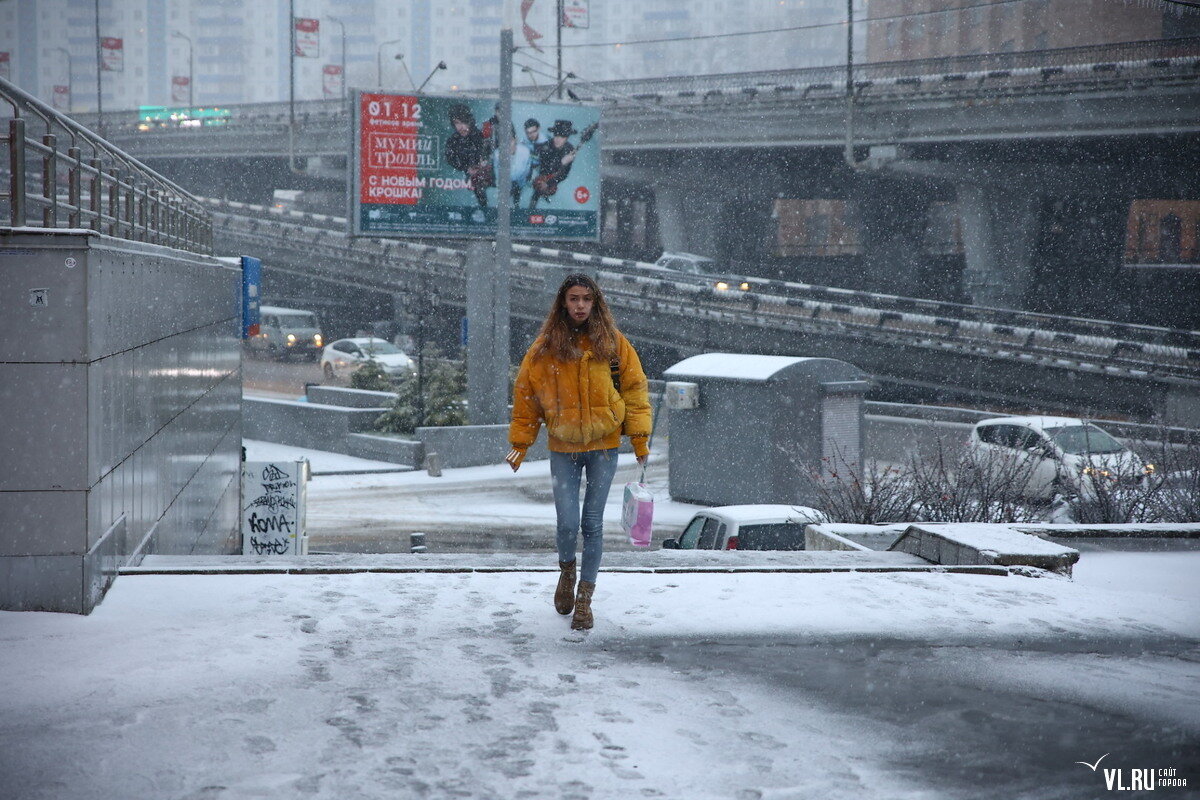
M 350 235 L 490 239 L 504 188 L 515 239 L 599 239 L 599 109 L 514 102 L 502 137 L 494 98 L 356 91 L 354 108 Z

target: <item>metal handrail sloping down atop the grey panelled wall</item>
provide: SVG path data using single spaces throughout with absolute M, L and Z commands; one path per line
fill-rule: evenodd
M 8 225 L 88 228 L 212 252 L 212 216 L 191 193 L 4 78 L 0 101 L 11 109 L 0 137 L 7 154 L 0 219 Z

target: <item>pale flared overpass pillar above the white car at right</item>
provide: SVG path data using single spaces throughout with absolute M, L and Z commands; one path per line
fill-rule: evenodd
M 966 269 L 962 285 L 978 306 L 1021 308 L 1033 278 L 1040 197 L 1025 184 L 959 184 Z

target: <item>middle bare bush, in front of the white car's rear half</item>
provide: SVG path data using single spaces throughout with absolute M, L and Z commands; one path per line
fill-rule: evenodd
M 938 437 L 934 451 L 908 464 L 924 522 L 1033 522 L 1026 491 L 1032 459 L 1006 458 Z

